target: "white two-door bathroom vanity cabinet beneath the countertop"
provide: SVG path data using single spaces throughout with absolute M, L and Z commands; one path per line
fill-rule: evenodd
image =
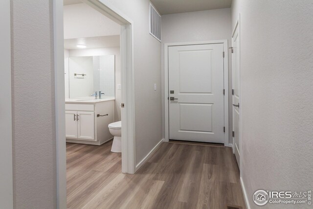
M 114 121 L 114 100 L 65 107 L 67 142 L 101 145 L 113 138 L 108 125 Z

